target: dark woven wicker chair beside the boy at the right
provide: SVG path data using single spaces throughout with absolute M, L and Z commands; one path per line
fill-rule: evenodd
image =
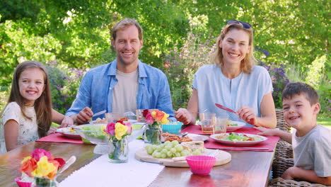
M 276 115 L 277 128 L 279 128 L 279 130 L 290 132 L 291 127 L 286 124 L 282 111 L 276 109 Z M 292 146 L 284 140 L 279 140 L 274 154 L 274 161 L 272 162 L 273 179 L 269 181 L 269 187 L 325 187 L 318 183 L 281 179 L 280 176 L 291 166 L 294 166 Z

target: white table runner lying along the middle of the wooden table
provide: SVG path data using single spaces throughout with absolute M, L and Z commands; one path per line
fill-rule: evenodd
M 127 163 L 113 164 L 108 162 L 108 155 L 102 155 L 90 164 L 74 171 L 59 183 L 59 187 L 149 186 L 164 166 L 139 162 L 135 159 L 134 154 L 141 147 L 144 147 L 144 142 L 141 140 L 129 142 L 129 161 Z

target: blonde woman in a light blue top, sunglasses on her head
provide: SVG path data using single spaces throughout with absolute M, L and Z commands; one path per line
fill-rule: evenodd
M 175 117 L 185 125 L 194 124 L 198 113 L 224 113 L 216 108 L 215 103 L 219 103 L 236 110 L 236 114 L 228 113 L 230 120 L 274 128 L 277 119 L 272 81 L 267 69 L 255 65 L 250 24 L 228 21 L 216 45 L 219 47 L 211 57 L 214 64 L 204 65 L 194 75 L 187 109 L 178 109 Z

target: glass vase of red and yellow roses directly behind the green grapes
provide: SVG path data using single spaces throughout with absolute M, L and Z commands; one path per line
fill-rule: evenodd
M 148 109 L 144 110 L 143 116 L 148 127 L 144 133 L 144 141 L 153 145 L 161 144 L 161 125 L 169 123 L 169 115 L 163 111 Z

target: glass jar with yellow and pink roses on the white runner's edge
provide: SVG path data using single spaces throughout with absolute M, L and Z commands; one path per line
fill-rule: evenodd
M 131 123 L 124 123 L 122 120 L 117 120 L 116 123 L 108 123 L 104 131 L 110 135 L 108 143 L 109 162 L 127 162 L 129 155 L 127 135 L 131 135 Z

